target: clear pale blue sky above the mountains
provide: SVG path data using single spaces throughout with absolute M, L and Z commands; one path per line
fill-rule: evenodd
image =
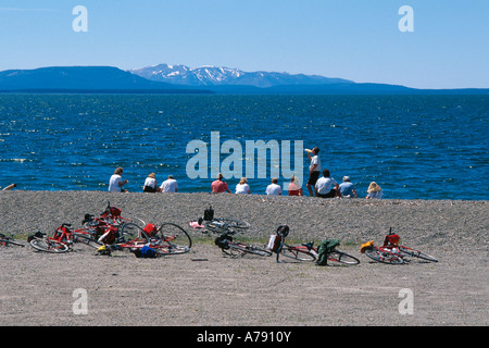
M 168 63 L 489 88 L 488 20 L 488 0 L 0 0 L 0 71 Z

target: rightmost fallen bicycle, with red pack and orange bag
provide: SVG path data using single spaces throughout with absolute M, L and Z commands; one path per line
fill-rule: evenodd
M 368 258 L 376 262 L 388 264 L 403 264 L 409 262 L 405 257 L 418 258 L 425 261 L 438 262 L 438 260 L 427 253 L 421 252 L 405 246 L 401 246 L 401 237 L 392 233 L 392 227 L 389 234 L 384 238 L 384 245 L 377 247 L 374 240 L 367 241 L 361 246 L 360 251 L 365 253 Z

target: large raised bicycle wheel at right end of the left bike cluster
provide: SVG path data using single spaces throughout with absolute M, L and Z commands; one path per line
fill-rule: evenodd
M 155 238 L 149 238 L 151 247 L 160 254 L 186 253 L 192 247 L 188 233 L 174 223 L 163 223 Z

